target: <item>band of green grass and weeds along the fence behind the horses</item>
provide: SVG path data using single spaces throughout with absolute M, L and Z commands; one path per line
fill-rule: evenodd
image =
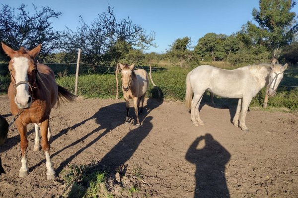
M 1 68 L 3 67 L 1 64 Z M 7 65 L 6 65 L 7 66 Z M 4 67 L 6 67 L 4 65 Z M 50 64 L 53 67 L 55 73 L 59 73 L 56 77 L 56 81 L 59 85 L 71 90 L 74 93 L 74 65 L 57 65 Z M 231 69 L 231 65 L 225 63 L 218 63 L 215 66 Z M 148 66 L 143 66 L 149 71 Z M 164 67 L 152 67 L 152 78 L 154 83 L 162 91 L 163 99 L 180 100 L 185 98 L 185 78 L 189 71 L 193 68 L 180 68 L 177 66 L 164 66 Z M 4 70 L 2 73 L 5 73 Z M 78 91 L 77 94 L 85 98 L 115 98 L 116 95 L 116 80 L 115 80 L 115 68 L 113 67 L 92 67 L 91 65 L 80 68 L 78 77 Z M 298 86 L 298 67 L 291 66 L 285 71 L 284 78 L 281 82 L 281 86 Z M 69 76 L 62 76 L 67 74 Z M 81 75 L 82 74 L 82 75 Z M 118 75 L 119 81 L 119 98 L 123 97 L 121 91 L 121 78 Z M 9 75 L 2 74 L 0 76 L 0 93 L 7 93 L 7 88 L 10 83 Z M 298 109 L 298 88 L 296 87 L 279 87 L 277 95 L 270 97 L 268 101 L 268 107 L 282 107 L 290 110 Z M 265 88 L 252 99 L 251 106 L 262 106 L 265 96 Z M 149 88 L 147 97 L 156 98 L 157 91 L 153 88 L 151 82 L 149 82 Z M 206 92 L 202 102 L 210 102 L 209 93 Z M 222 106 L 235 106 L 237 99 L 224 99 L 215 97 L 215 103 Z

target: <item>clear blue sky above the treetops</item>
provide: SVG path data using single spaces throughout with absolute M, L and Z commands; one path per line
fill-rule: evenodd
M 81 15 L 90 23 L 98 14 L 114 7 L 117 19 L 127 18 L 141 25 L 147 33 L 155 32 L 157 48 L 148 52 L 165 52 L 176 39 L 191 37 L 192 45 L 205 34 L 214 32 L 230 35 L 252 20 L 252 9 L 259 8 L 259 0 L 1 0 L 2 4 L 18 7 L 32 3 L 38 8 L 49 6 L 60 11 L 59 19 L 52 19 L 53 28 L 64 30 L 65 26 L 75 30 Z M 298 13 L 298 5 L 292 9 Z

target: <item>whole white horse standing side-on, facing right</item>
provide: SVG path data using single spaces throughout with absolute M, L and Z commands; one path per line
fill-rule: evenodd
M 245 117 L 251 99 L 265 86 L 269 87 L 269 96 L 275 95 L 287 66 L 288 64 L 259 64 L 234 70 L 220 69 L 210 65 L 196 67 L 187 74 L 185 95 L 185 105 L 191 109 L 193 124 L 204 125 L 199 115 L 199 105 L 204 92 L 208 89 L 224 98 L 239 99 L 233 124 L 236 127 L 239 124 L 242 130 L 248 131 Z

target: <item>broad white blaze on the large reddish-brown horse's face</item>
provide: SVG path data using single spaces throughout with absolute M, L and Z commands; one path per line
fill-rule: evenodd
M 29 61 L 25 57 L 15 57 L 12 59 L 12 66 L 15 71 L 14 79 L 15 84 L 17 84 L 20 81 L 28 81 L 28 67 L 29 67 Z M 20 107 L 20 108 L 27 108 L 30 106 L 28 105 L 28 100 L 30 98 L 30 95 L 28 93 L 29 86 L 26 84 L 20 84 L 16 88 L 16 96 L 14 98 L 14 102 Z M 29 102 L 30 103 L 30 102 Z

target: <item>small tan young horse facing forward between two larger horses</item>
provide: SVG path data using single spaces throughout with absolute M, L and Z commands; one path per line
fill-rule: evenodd
M 144 69 L 134 70 L 135 64 L 121 64 L 121 79 L 122 79 L 122 92 L 126 103 L 126 120 L 129 121 L 129 99 L 134 100 L 134 107 L 136 113 L 137 126 L 140 126 L 139 120 L 139 106 L 142 101 L 140 113 L 143 113 L 143 104 L 148 87 L 148 73 Z

